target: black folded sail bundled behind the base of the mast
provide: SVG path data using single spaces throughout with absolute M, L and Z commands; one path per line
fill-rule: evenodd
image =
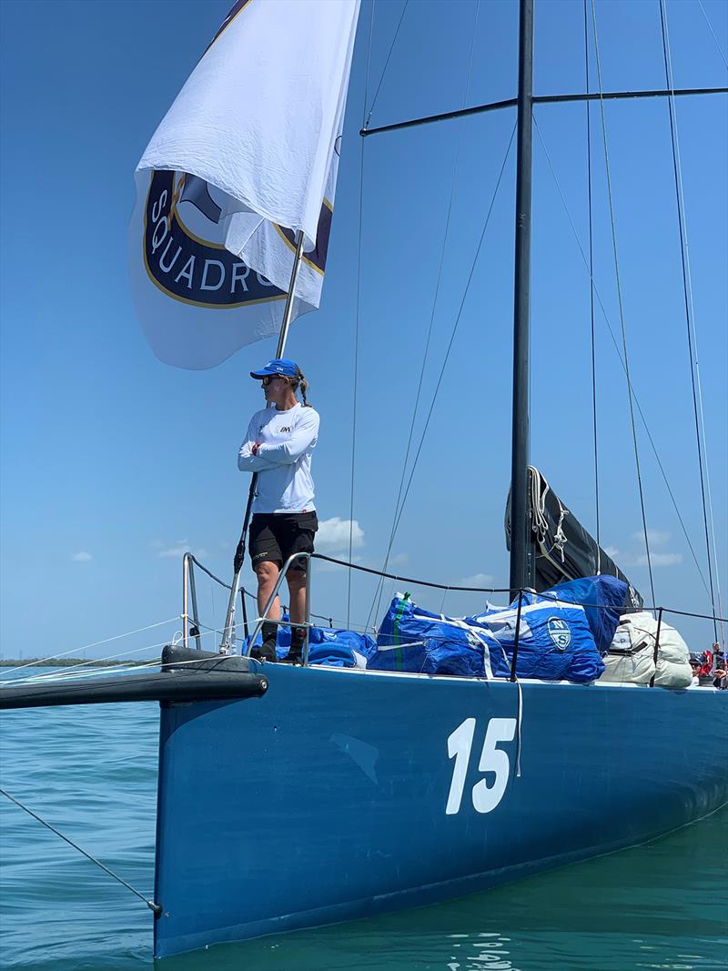
M 580 577 L 609 574 L 628 586 L 626 608 L 639 610 L 640 592 L 630 584 L 612 558 L 587 533 L 559 499 L 544 476 L 528 467 L 528 517 L 531 540 L 531 582 L 537 592 Z M 506 504 L 506 546 L 511 549 L 511 493 Z

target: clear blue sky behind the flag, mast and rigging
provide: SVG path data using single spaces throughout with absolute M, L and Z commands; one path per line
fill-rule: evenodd
M 708 20 L 697 0 L 668 2 L 677 86 L 726 84 L 728 8 L 720 0 L 702 6 Z M 536 91 L 582 90 L 582 5 L 541 0 L 536 7 Z M 275 342 L 244 349 L 208 372 L 159 363 L 134 318 L 126 267 L 134 168 L 227 8 L 228 0 L 2 4 L 5 656 L 75 652 L 174 619 L 183 549 L 197 552 L 215 573 L 230 574 L 248 489 L 236 452 L 261 401 L 248 370 L 274 352 Z M 596 9 L 605 89 L 664 86 L 657 0 L 598 0 Z M 401 12 L 400 0 L 376 6 L 370 107 Z M 311 379 L 310 397 L 321 414 L 314 476 L 322 520 L 350 516 L 357 132 L 369 18 L 364 3 L 323 301 L 294 325 L 288 346 Z M 470 0 L 411 2 L 371 124 L 512 97 L 516 19 L 513 0 L 489 0 L 480 9 Z M 590 71 L 595 89 L 593 49 Z M 683 98 L 677 113 L 725 610 L 728 100 Z M 585 109 L 541 106 L 536 117 L 585 246 Z M 667 103 L 612 103 L 606 121 L 633 384 L 707 577 Z M 502 112 L 366 140 L 353 505 L 354 553 L 364 564 L 381 566 L 389 540 L 456 156 L 415 443 L 512 129 L 513 113 Z M 597 108 L 592 137 L 595 279 L 618 335 Z M 397 571 L 409 576 L 507 584 L 513 191 L 512 152 L 392 548 Z M 593 529 L 589 284 L 539 134 L 532 263 L 532 458 Z M 596 343 L 602 539 L 646 594 L 625 383 L 599 312 Z M 708 612 L 705 586 L 642 426 L 639 436 L 656 598 Z M 319 549 L 346 558 L 335 524 L 326 527 Z M 252 584 L 249 571 L 245 579 Z M 442 604 L 453 613 L 481 605 L 480 598 L 443 599 L 421 587 L 413 593 L 423 606 Z M 206 584 L 200 596 L 204 621 L 219 624 L 224 598 Z M 371 604 L 371 582 L 356 577 L 351 619 L 363 622 Z M 314 611 L 346 619 L 343 572 L 316 567 Z M 87 653 L 145 653 L 177 626 L 171 621 Z M 710 643 L 710 626 L 681 626 L 695 648 Z

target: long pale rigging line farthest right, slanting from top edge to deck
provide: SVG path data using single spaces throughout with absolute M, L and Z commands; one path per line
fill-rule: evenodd
M 676 195 L 676 205 L 678 208 L 678 230 L 679 230 L 679 243 L 680 243 L 680 265 L 682 269 L 682 294 L 685 305 L 685 327 L 687 331 L 687 352 L 688 352 L 688 364 L 690 367 L 690 384 L 692 388 L 692 399 L 693 399 L 693 415 L 695 417 L 695 440 L 698 450 L 698 469 L 700 473 L 700 494 L 703 502 L 703 525 L 706 535 L 706 552 L 708 557 L 708 577 L 711 586 L 711 608 L 713 614 L 715 614 L 715 595 L 713 592 L 713 582 L 712 582 L 712 563 L 711 563 L 711 538 L 709 534 L 708 526 L 708 509 L 706 502 L 706 485 L 708 485 L 708 491 L 710 495 L 710 481 L 706 484 L 707 477 L 707 467 L 704 473 L 703 469 L 703 452 L 706 452 L 706 462 L 708 460 L 708 447 L 706 444 L 706 432 L 705 424 L 703 425 L 703 440 L 701 442 L 701 427 L 700 427 L 700 416 L 698 409 L 698 393 L 700 385 L 700 375 L 697 374 L 698 378 L 698 388 L 696 388 L 696 372 L 698 371 L 698 349 L 697 349 L 697 331 L 695 325 L 695 306 L 693 302 L 693 291 L 692 291 L 692 279 L 690 274 L 690 257 L 687 250 L 687 220 L 685 216 L 685 197 L 683 191 L 682 183 L 682 166 L 680 163 L 680 151 L 679 151 L 679 137 L 678 137 L 678 118 L 677 110 L 675 105 L 675 95 L 673 94 L 675 90 L 675 84 L 673 83 L 673 58 L 670 51 L 670 36 L 668 30 L 667 22 L 667 11 L 665 9 L 665 0 L 659 0 L 660 2 L 660 27 L 662 30 L 662 53 L 665 62 L 665 81 L 668 88 L 670 89 L 671 96 L 668 98 L 668 106 L 670 110 L 670 140 L 673 149 L 673 175 L 675 178 L 675 195 Z M 691 327 L 692 324 L 692 327 Z M 693 333 L 695 334 L 696 342 L 694 346 Z M 702 393 L 701 393 L 702 401 Z M 702 409 L 701 409 L 702 411 Z M 711 503 L 711 521 L 712 521 L 712 503 Z M 713 551 L 715 549 L 715 534 L 713 531 L 712 535 Z M 717 579 L 717 563 L 716 563 L 716 579 Z M 720 609 L 720 604 L 718 604 L 718 613 L 722 613 Z M 713 634 L 715 641 L 718 639 L 718 628 L 717 621 L 713 621 Z M 725 637 L 723 637 L 725 642 Z

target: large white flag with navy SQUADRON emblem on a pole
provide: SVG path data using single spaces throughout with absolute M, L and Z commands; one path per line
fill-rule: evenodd
M 318 306 L 359 0 L 238 0 L 137 166 L 132 291 L 156 355 L 207 368 Z

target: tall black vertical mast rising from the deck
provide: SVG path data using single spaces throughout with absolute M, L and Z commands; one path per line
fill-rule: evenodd
M 513 298 L 513 438 L 511 452 L 511 592 L 530 586 L 528 519 L 528 378 L 531 289 L 531 141 L 533 0 L 520 0 Z

